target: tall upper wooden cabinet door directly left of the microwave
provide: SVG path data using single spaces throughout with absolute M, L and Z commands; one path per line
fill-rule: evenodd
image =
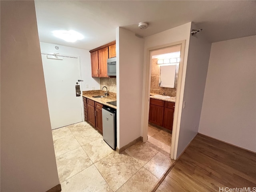
M 107 59 L 108 59 L 108 47 L 98 50 L 99 56 L 99 77 L 108 77 L 108 66 L 107 66 Z

